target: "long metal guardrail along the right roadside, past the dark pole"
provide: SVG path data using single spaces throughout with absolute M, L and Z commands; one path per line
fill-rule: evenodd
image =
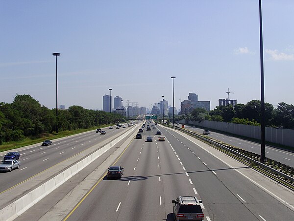
M 208 139 L 208 138 L 204 138 L 204 137 L 202 137 L 202 136 L 200 136 L 200 135 L 198 135 L 198 134 L 196 134 L 196 133 L 194 133 L 194 132 L 191 132 L 191 131 L 188 131 L 188 130 L 186 130 L 186 129 L 182 129 L 182 128 L 177 128 L 177 127 L 172 127 L 172 126 L 168 126 L 168 127 L 171 127 L 171 128 L 173 128 L 173 129 L 176 129 L 176 130 L 179 130 L 179 131 L 182 131 L 182 132 L 185 132 L 185 133 L 187 133 L 187 134 L 189 134 L 189 135 L 192 135 L 192 136 L 194 136 L 194 137 L 196 137 L 196 138 L 198 138 L 198 139 L 202 139 L 203 141 L 205 141 L 205 142 L 207 142 L 207 143 L 210 143 L 210 144 L 212 144 L 212 145 L 214 145 L 214 146 L 216 146 L 216 147 L 218 147 L 218 148 L 221 148 L 221 149 L 223 149 L 223 150 L 225 150 L 225 151 L 227 151 L 227 152 L 229 152 L 229 153 L 231 153 L 231 154 L 233 154 L 233 155 L 236 155 L 236 156 L 238 156 L 239 158 L 243 158 L 243 159 L 245 159 L 246 161 L 248 161 L 248 162 L 250 162 L 252 165 L 258 165 L 258 166 L 260 166 L 263 170 L 264 170 L 264 173 L 265 172 L 267 172 L 267 173 L 269 173 L 268 171 L 270 171 L 271 173 L 273 173 L 274 175 L 278 175 L 278 176 L 280 176 L 280 177 L 282 177 L 283 179 L 281 180 L 281 179 L 279 179 L 278 177 L 275 177 L 275 179 L 276 180 L 279 180 L 279 181 L 282 181 L 283 183 L 285 182 L 286 184 L 288 184 L 289 186 L 291 186 L 291 188 L 292 189 L 294 189 L 294 177 L 292 177 L 292 176 L 289 176 L 289 175 L 287 175 L 287 174 L 285 174 L 285 173 L 283 173 L 283 172 L 281 172 L 281 171 L 279 171 L 279 170 L 277 170 L 277 169 L 275 169 L 275 168 L 272 168 L 272 167 L 270 167 L 270 166 L 267 166 L 267 165 L 265 165 L 265 164 L 263 164 L 263 163 L 261 163 L 261 162 L 259 162 L 259 161 L 257 161 L 257 160 L 254 160 L 254 159 L 252 159 L 252 158 L 250 158 L 250 157 L 248 157 L 248 156 L 245 156 L 244 154 L 242 154 L 242 153 L 239 153 L 238 151 L 235 151 L 235 150 L 233 150 L 233 149 L 231 149 L 231 148 L 229 148 L 229 147 L 227 147 L 227 146 L 224 146 L 224 145 L 222 145 L 222 144 L 220 144 L 220 143 L 218 143 L 218 142 L 215 142 L 215 141 L 213 141 L 213 140 L 211 140 L 211 139 Z M 240 149 L 240 148 L 235 148 L 235 149 Z M 242 151 L 242 149 L 240 149 L 241 151 Z M 245 151 L 245 150 L 243 150 L 243 151 Z M 250 152 L 250 151 L 246 151 L 246 152 Z M 258 154 L 255 154 L 255 153 L 252 153 L 252 152 L 250 152 L 252 155 L 254 155 L 254 156 L 257 156 L 257 158 L 258 157 L 260 157 L 260 155 L 258 155 Z M 269 158 L 267 158 L 266 159 L 267 161 L 270 161 L 270 162 L 272 162 L 273 160 L 271 160 L 271 159 L 269 159 Z M 275 161 L 274 161 L 275 162 Z M 279 165 L 280 165 L 280 163 L 278 163 Z M 285 166 L 285 165 L 284 165 Z M 289 166 L 288 166 L 288 168 L 289 168 Z M 293 168 L 292 168 L 292 175 L 293 175 Z M 267 173 L 265 173 L 265 174 L 267 174 Z M 267 174 L 268 175 L 268 174 Z M 289 180 L 289 182 L 286 182 L 285 180 Z

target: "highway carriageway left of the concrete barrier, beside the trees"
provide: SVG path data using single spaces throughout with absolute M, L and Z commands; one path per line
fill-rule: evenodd
M 58 166 L 59 164 L 68 161 L 68 164 L 71 165 L 79 161 L 82 157 L 94 151 L 90 147 L 109 142 L 131 127 L 113 128 L 103 129 L 106 131 L 106 135 L 100 135 L 99 133 L 95 133 L 96 131 L 90 131 L 52 140 L 52 145 L 49 146 L 42 146 L 39 143 L 29 148 L 25 147 L 15 150 L 21 154 L 21 166 L 19 169 L 12 170 L 11 172 L 0 172 L 0 195 L 2 198 L 5 198 L 5 201 L 0 201 L 0 209 L 19 198 L 26 191 L 42 183 L 43 180 L 36 179 L 32 181 L 36 175 L 44 174 L 42 178 L 44 181 L 48 180 L 66 167 Z M 3 152 L 3 154 L 5 153 Z M 1 155 L 0 157 L 2 158 L 3 156 Z M 51 172 L 48 171 L 49 169 L 51 169 Z M 25 182 L 27 185 L 25 188 L 18 189 L 18 194 L 9 193 L 9 191 L 13 191 L 13 189 L 16 189 L 17 186 Z

